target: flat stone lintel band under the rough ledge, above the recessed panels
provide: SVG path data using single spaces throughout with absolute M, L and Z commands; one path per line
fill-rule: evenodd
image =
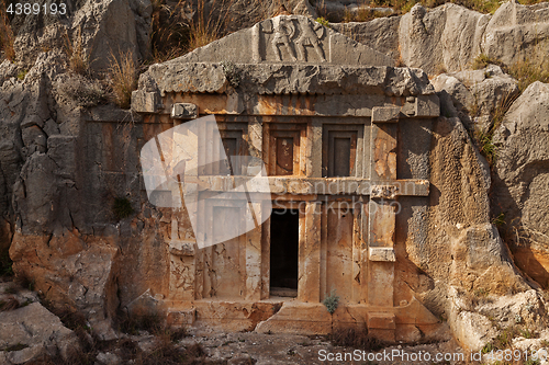
M 153 94 L 153 93 L 147 93 Z M 156 94 L 156 93 L 155 93 Z M 153 98 L 150 95 L 150 98 Z M 157 96 L 159 99 L 159 96 Z M 155 112 L 145 111 L 136 99 L 134 112 L 160 114 L 172 118 L 191 118 L 199 115 L 246 116 L 349 116 L 372 117 L 373 123 L 396 123 L 400 118 L 436 117 L 439 113 L 437 95 L 393 96 L 380 93 L 355 94 L 243 94 L 225 93 L 170 93 L 157 105 Z M 152 103 L 152 102 L 149 102 Z M 403 103 L 402 106 L 400 104 Z M 188 116 L 179 104 L 197 105 L 197 115 Z M 386 106 L 386 104 L 394 104 Z M 385 106 L 379 106 L 385 105 Z M 160 107 L 161 106 L 161 107 Z M 175 110 L 177 107 L 177 110 Z

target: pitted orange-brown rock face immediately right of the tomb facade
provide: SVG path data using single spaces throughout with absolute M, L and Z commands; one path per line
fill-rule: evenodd
M 410 261 L 425 274 L 407 285 L 433 312 L 446 313 L 462 345 L 482 347 L 497 330 L 473 307 L 456 305 L 456 290 L 497 296 L 530 286 L 490 224 L 489 168 L 458 117 L 439 117 L 433 126 L 429 164 L 430 204 L 426 212 L 416 208 L 408 229 L 415 236 L 428 225 L 428 233 L 424 244 L 406 246 Z

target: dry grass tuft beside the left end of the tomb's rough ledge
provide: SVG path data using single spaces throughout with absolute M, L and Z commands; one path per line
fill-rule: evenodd
M 137 67 L 131 52 L 121 53 L 119 58 L 111 53 L 109 78 L 114 103 L 122 109 L 128 109 L 132 91 L 137 89 Z

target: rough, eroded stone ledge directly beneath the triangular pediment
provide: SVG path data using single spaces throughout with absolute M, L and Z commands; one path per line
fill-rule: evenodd
M 412 68 L 288 61 L 235 62 L 235 71 L 240 76 L 235 90 L 247 94 L 435 94 L 427 75 Z M 178 92 L 225 93 L 229 92 L 228 83 L 220 62 L 186 62 L 182 58 L 153 65 L 139 77 L 139 84 L 143 85 L 139 90 L 156 89 L 161 96 Z

